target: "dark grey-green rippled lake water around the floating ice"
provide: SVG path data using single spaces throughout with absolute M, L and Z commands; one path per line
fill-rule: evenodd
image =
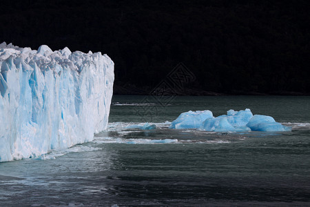
M 310 206 L 310 97 L 114 96 L 107 132 L 0 163 L 0 206 Z M 181 112 L 270 115 L 292 132 L 172 130 Z M 129 129 L 148 121 L 155 130 Z

